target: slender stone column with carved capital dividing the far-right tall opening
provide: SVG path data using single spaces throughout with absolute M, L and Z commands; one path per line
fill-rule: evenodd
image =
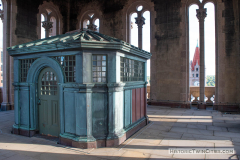
M 203 107 L 205 105 L 205 102 L 204 102 L 204 94 L 205 94 L 204 20 L 207 16 L 207 9 L 201 8 L 201 9 L 197 9 L 196 11 L 197 11 L 196 16 L 199 20 L 199 39 L 200 39 L 200 101 L 199 101 L 200 104 L 199 105 Z

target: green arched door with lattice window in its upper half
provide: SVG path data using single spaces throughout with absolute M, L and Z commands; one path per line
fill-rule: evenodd
M 58 77 L 51 68 L 41 71 L 38 78 L 39 133 L 59 136 Z

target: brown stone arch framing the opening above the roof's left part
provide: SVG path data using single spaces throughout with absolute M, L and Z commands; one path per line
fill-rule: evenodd
M 37 34 L 38 38 L 41 39 L 41 14 L 45 15 L 45 21 L 50 21 L 52 17 L 56 19 L 56 35 L 62 34 L 63 32 L 63 22 L 62 15 L 59 8 L 53 4 L 53 2 L 44 1 L 42 5 L 38 7 L 39 12 L 37 15 Z

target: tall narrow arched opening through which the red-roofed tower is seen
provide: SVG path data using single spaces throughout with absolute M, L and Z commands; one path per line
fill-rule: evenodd
M 197 102 L 199 92 L 192 92 L 194 87 L 199 87 L 200 75 L 200 50 L 199 50 L 199 21 L 196 17 L 198 5 L 193 4 L 188 9 L 189 15 L 189 87 L 191 101 Z M 198 89 L 198 88 L 197 88 Z M 196 89 L 196 90 L 197 90 Z M 196 93 L 196 95 L 193 95 Z

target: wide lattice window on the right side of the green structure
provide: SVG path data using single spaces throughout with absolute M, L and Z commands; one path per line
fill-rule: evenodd
M 121 57 L 121 81 L 144 81 L 144 62 Z

